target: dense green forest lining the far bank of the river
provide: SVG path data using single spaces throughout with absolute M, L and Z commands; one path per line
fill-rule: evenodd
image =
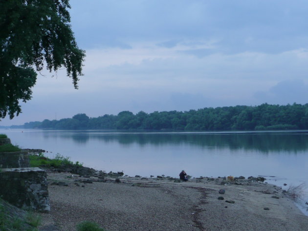
M 11 128 L 110 129 L 110 130 L 288 130 L 308 129 L 308 104 L 205 107 L 189 111 L 122 111 L 90 118 L 80 113 L 72 118 L 29 122 Z

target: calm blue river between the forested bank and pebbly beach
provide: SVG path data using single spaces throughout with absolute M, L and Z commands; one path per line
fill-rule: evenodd
M 23 132 L 22 132 L 23 131 Z M 84 166 L 130 176 L 266 176 L 308 184 L 308 131 L 127 132 L 0 129 L 12 144 L 60 153 Z M 269 177 L 272 176 L 272 177 Z M 285 188 L 287 188 L 286 186 Z M 307 189 L 306 189 L 307 190 Z M 308 191 L 308 190 L 307 190 Z M 308 197 L 305 197 L 308 200 Z M 306 214 L 308 214 L 306 212 Z

